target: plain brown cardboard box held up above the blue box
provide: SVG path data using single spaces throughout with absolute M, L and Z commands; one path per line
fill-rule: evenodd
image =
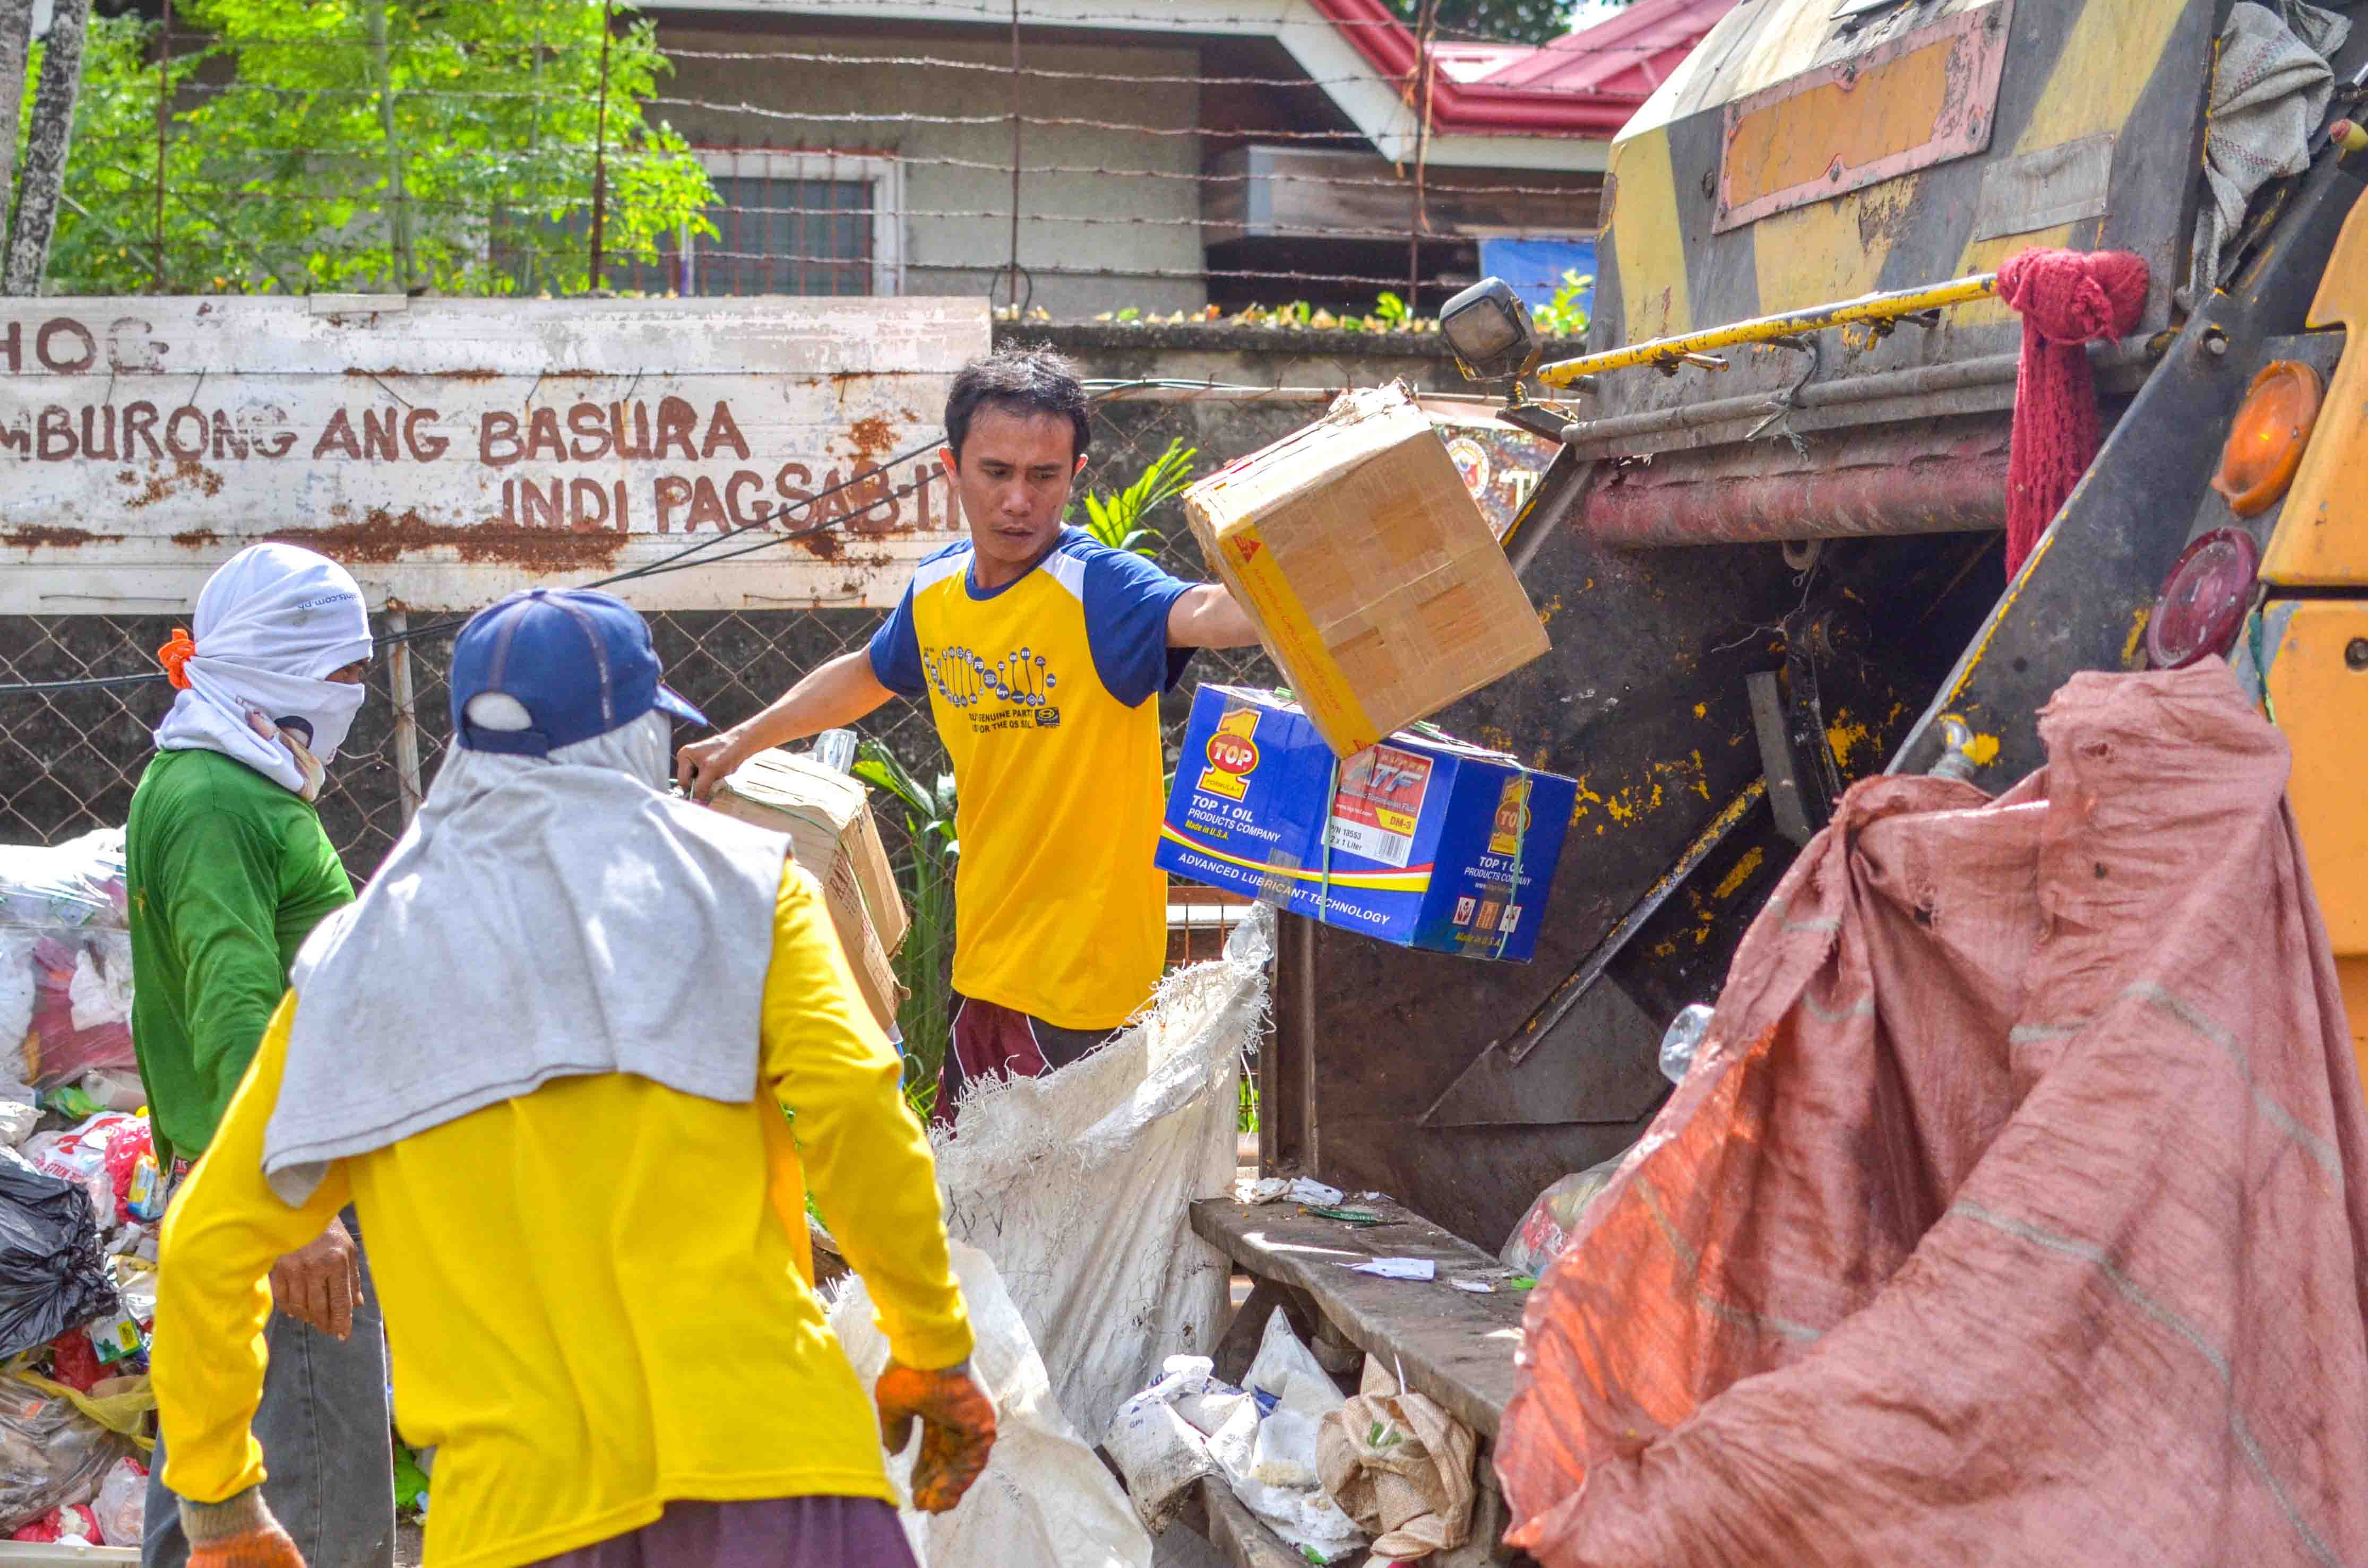
M 1343 393 L 1317 424 L 1196 483 L 1184 512 L 1340 756 L 1549 647 L 1402 381 Z

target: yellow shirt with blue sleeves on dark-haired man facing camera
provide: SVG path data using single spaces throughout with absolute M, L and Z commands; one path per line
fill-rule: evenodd
M 1167 955 L 1158 694 L 1191 649 L 1167 611 L 1191 583 L 1063 528 L 983 592 L 971 542 L 912 576 L 871 673 L 928 694 L 954 758 L 954 990 L 1056 1028 L 1125 1023 Z

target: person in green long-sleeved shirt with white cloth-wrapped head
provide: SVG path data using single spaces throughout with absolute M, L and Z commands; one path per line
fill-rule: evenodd
M 322 765 L 362 706 L 369 613 L 353 576 L 310 550 L 253 545 L 206 580 L 159 658 L 180 694 L 126 822 L 133 1045 L 166 1203 L 263 1045 L 296 950 L 353 881 L 320 827 Z M 343 1222 L 282 1258 L 256 1412 L 265 1495 L 313 1568 L 393 1566 L 386 1338 Z M 149 1473 L 142 1568 L 211 1561 Z

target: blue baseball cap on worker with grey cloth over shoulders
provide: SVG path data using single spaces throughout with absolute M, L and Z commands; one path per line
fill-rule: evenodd
M 708 718 L 658 680 L 658 649 L 642 611 L 590 587 L 530 587 L 469 618 L 452 642 L 452 739 L 469 751 L 547 756 L 609 734 L 651 708 Z M 500 692 L 533 727 L 469 722 L 469 701 Z

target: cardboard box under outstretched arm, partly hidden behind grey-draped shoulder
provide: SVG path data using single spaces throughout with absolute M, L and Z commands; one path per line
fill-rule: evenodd
M 710 805 L 727 817 L 789 834 L 798 865 L 822 881 L 838 945 L 871 1016 L 890 1028 L 905 988 L 888 959 L 905 940 L 907 919 L 888 848 L 871 820 L 871 793 L 857 779 L 803 756 L 760 751 L 715 786 Z

